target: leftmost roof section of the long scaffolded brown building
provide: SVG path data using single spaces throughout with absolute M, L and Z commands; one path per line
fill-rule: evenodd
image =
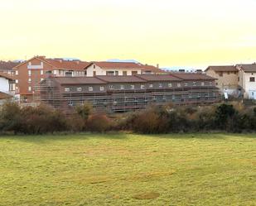
M 106 84 L 103 80 L 95 77 L 51 77 L 59 84 Z

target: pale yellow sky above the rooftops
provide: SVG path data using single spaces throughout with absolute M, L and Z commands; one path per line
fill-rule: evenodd
M 256 0 L 0 0 L 0 59 L 251 63 L 255 9 Z

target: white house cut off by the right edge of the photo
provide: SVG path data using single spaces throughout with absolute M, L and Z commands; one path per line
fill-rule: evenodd
M 239 88 L 244 98 L 256 99 L 256 64 L 236 66 L 239 69 Z

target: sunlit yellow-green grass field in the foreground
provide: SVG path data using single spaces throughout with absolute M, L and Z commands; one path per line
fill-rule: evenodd
M 256 205 L 256 135 L 0 137 L 0 205 Z

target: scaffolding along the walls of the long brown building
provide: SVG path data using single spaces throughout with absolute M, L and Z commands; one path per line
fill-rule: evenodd
M 209 104 L 220 102 L 220 93 L 215 86 L 193 86 L 162 89 L 118 89 L 89 93 L 61 92 L 63 87 L 51 79 L 36 86 L 36 103 L 46 103 L 65 113 L 74 113 L 75 106 L 90 103 L 94 112 L 124 113 L 145 109 L 152 105 L 168 103 Z

